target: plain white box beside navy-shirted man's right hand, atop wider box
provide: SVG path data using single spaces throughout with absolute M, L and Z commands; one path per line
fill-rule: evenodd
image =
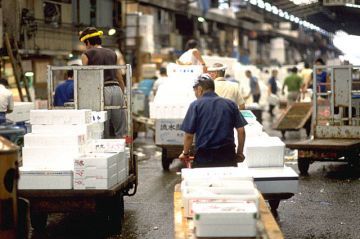
M 256 137 L 244 146 L 245 161 L 249 168 L 284 166 L 285 144 L 278 137 Z

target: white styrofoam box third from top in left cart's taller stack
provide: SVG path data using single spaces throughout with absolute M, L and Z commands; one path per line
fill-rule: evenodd
M 81 146 L 85 143 L 85 135 L 79 134 L 26 134 L 24 136 L 25 147 L 48 146 Z

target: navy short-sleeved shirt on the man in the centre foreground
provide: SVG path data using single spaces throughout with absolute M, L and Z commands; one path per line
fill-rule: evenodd
M 234 145 L 234 128 L 247 124 L 235 102 L 206 92 L 191 103 L 181 130 L 196 135 L 196 149 Z

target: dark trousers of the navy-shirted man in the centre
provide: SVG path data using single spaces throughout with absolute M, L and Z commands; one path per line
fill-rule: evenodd
M 198 149 L 192 165 L 193 168 L 235 166 L 237 166 L 235 145 L 218 149 Z

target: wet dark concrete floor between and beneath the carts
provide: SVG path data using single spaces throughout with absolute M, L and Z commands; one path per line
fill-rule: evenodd
M 265 128 L 267 124 L 264 122 Z M 304 130 L 286 136 L 292 140 L 306 137 Z M 125 197 L 122 234 L 108 236 L 92 214 L 52 214 L 46 230 L 33 232 L 31 238 L 171 239 L 173 191 L 180 182 L 178 165 L 175 161 L 171 171 L 164 172 L 159 154 L 139 161 L 139 187 L 135 196 Z M 287 165 L 298 172 L 292 157 Z M 309 176 L 300 177 L 298 193 L 280 203 L 278 214 L 285 238 L 360 238 L 360 169 L 346 163 L 315 162 Z

